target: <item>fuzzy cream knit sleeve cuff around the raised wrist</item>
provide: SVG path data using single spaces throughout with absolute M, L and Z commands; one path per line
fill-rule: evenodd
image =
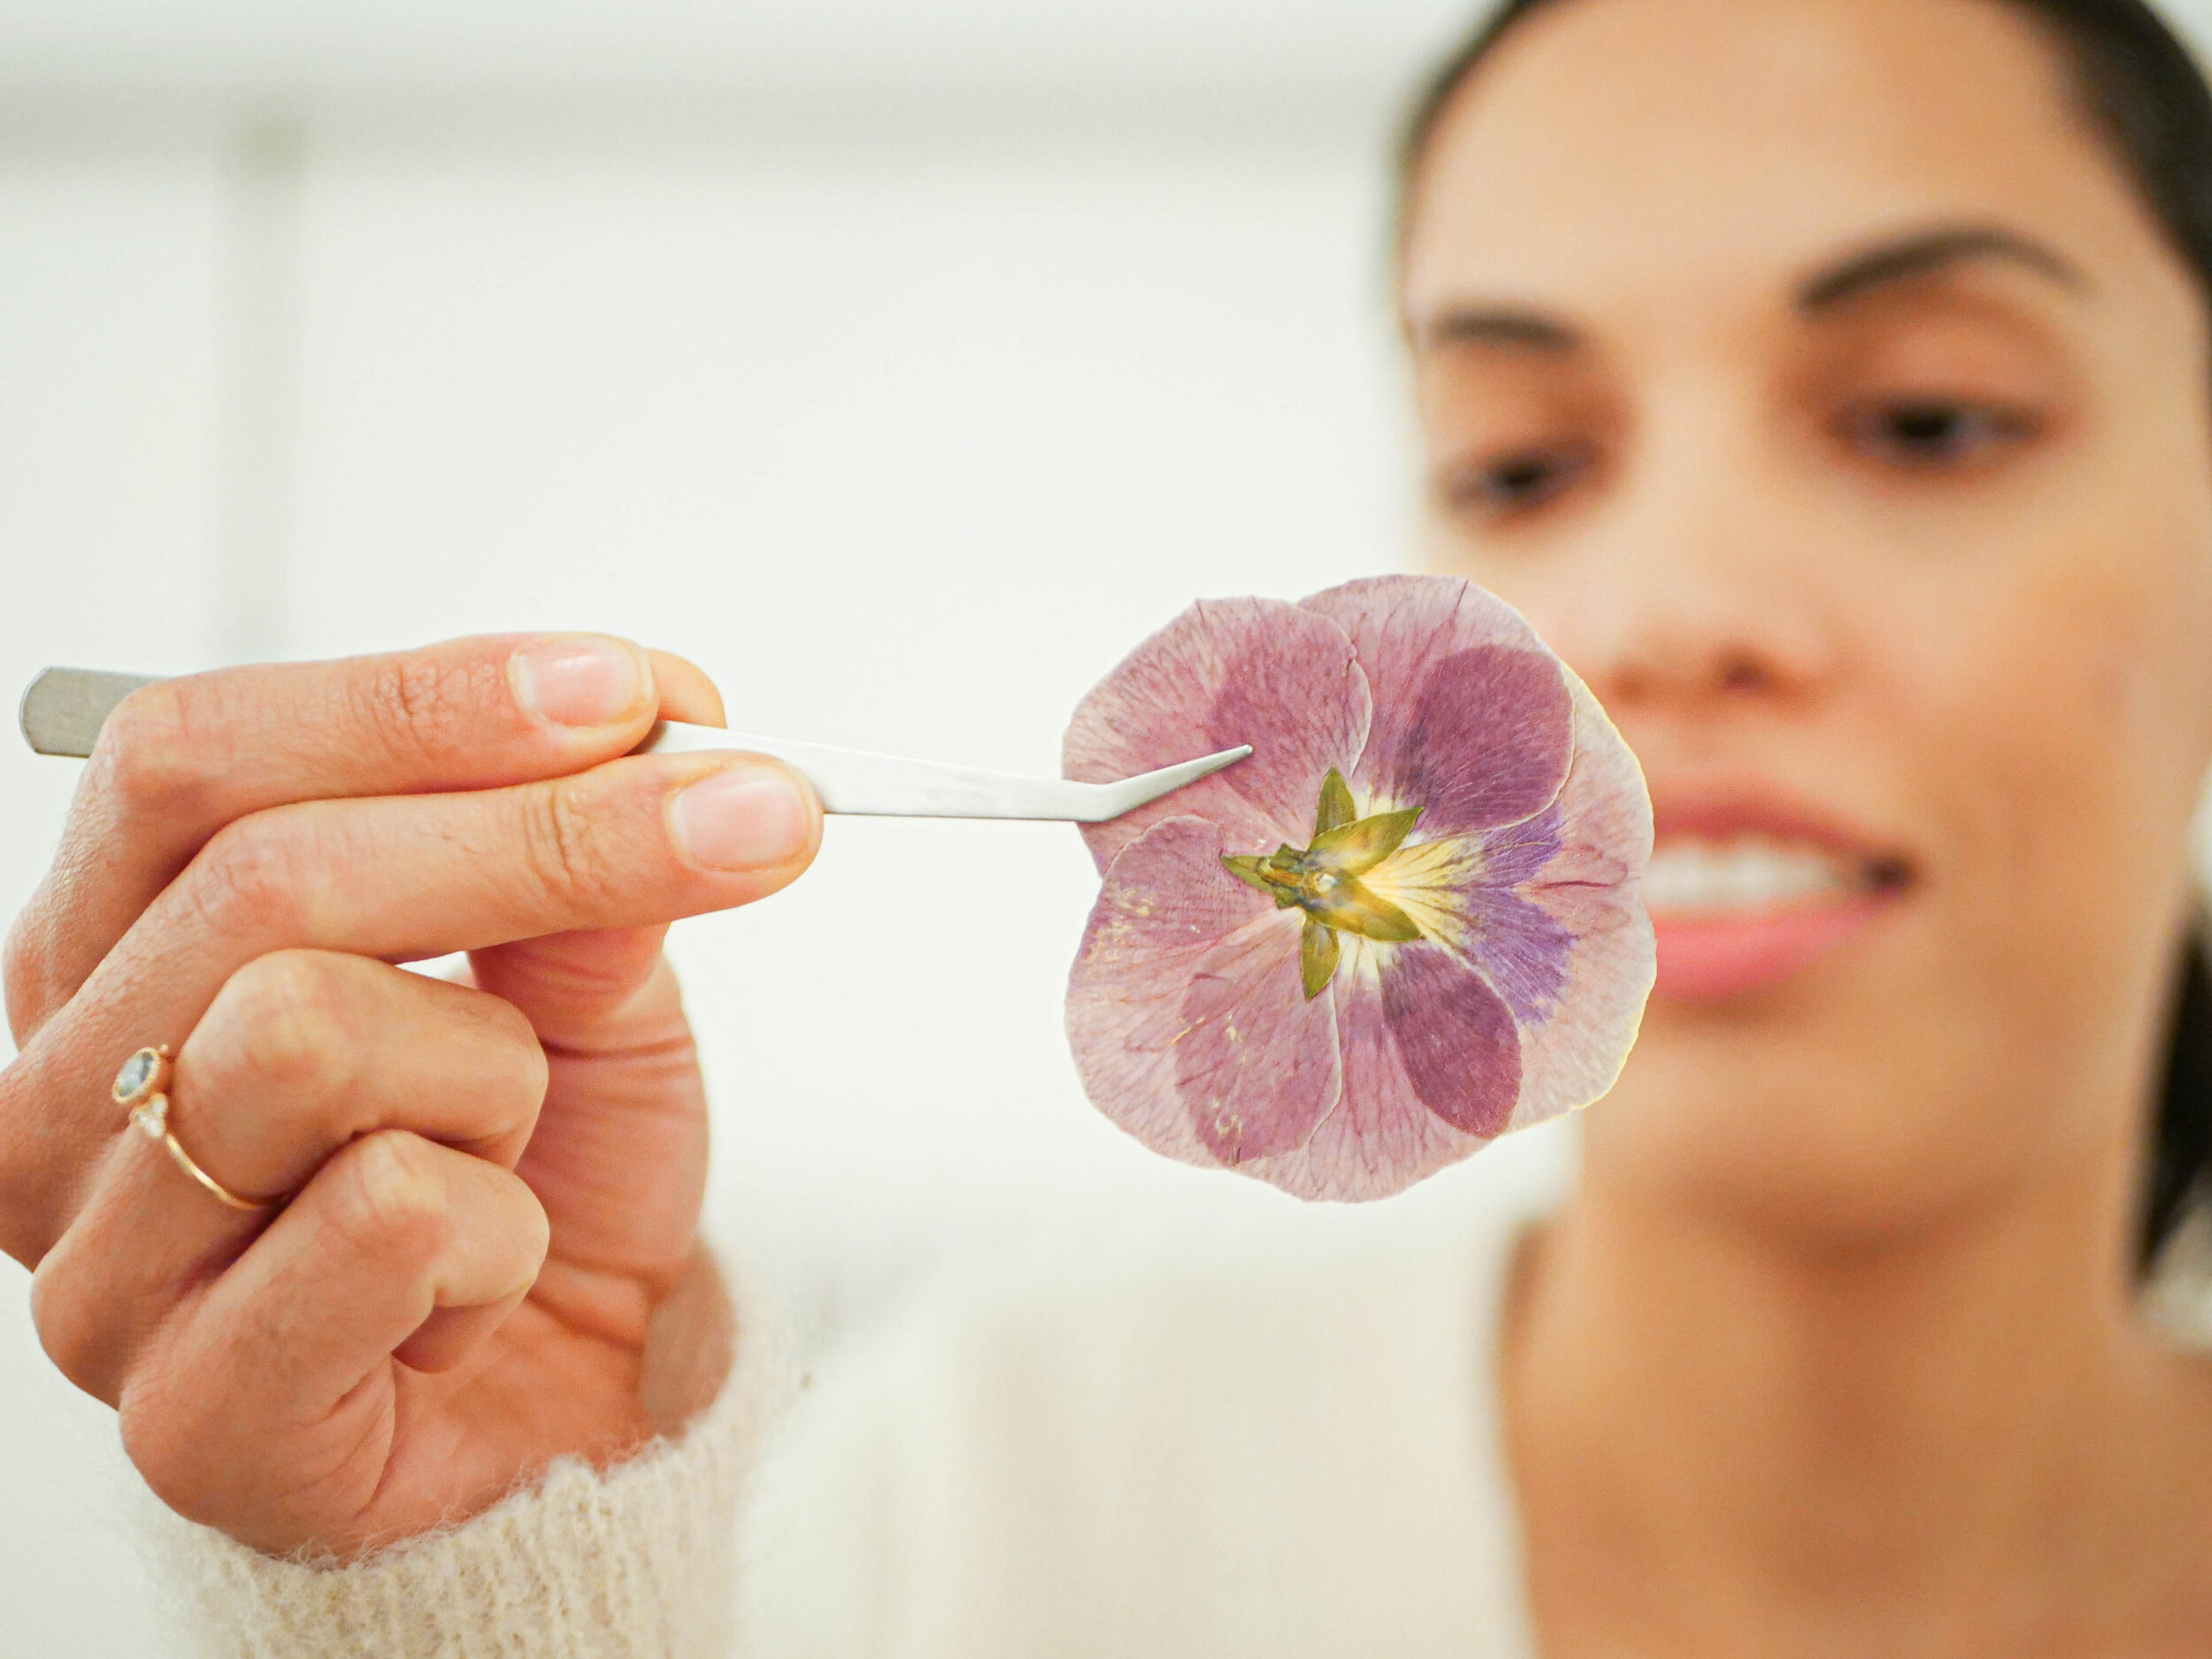
M 223 1659 L 726 1659 L 741 1489 L 781 1389 L 770 1325 L 737 1301 L 719 1391 L 699 1387 L 695 1332 L 657 1332 L 677 1349 L 659 1367 L 648 1349 L 648 1391 L 675 1371 L 712 1394 L 688 1425 L 606 1471 L 560 1458 L 482 1515 L 358 1562 L 261 1555 L 148 1493 L 142 1533 L 177 1626 Z M 728 1303 L 712 1312 L 728 1329 Z

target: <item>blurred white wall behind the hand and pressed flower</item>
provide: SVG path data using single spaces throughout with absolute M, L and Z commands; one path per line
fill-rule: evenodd
M 1387 146 L 1471 11 L 11 0 L 0 701 L 593 626 L 739 728 L 1048 772 L 1192 597 L 1402 562 Z M 0 741 L 0 914 L 73 774 Z M 1071 830 L 845 821 L 679 931 L 712 1225 L 816 1340 L 1274 1201 L 1084 1104 L 1093 889 Z M 157 1650 L 111 1416 L 0 1281 L 0 1652 Z

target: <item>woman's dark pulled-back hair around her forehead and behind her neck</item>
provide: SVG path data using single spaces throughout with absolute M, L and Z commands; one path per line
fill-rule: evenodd
M 1398 246 L 1420 164 L 1467 77 L 1531 13 L 1566 0 L 1504 0 L 1431 75 L 1398 146 Z M 2090 131 L 2119 164 L 2168 246 L 2197 279 L 2212 319 L 2212 88 L 2143 0 L 2002 0 L 2057 44 Z M 2212 953 L 2190 929 L 2174 984 L 2166 1075 L 2143 1177 L 2139 1261 L 2148 1265 L 2199 1188 L 2212 1186 Z

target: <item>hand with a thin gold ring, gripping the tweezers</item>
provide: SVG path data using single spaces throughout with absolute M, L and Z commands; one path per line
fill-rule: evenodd
M 653 1314 L 699 1272 L 706 1099 L 679 916 L 770 894 L 821 807 L 599 637 L 148 686 L 106 723 L 7 947 L 0 1245 L 40 1338 L 179 1513 L 356 1551 L 655 1431 Z M 396 962 L 469 951 L 473 987 Z M 173 1044 L 201 1190 L 111 1099 Z

